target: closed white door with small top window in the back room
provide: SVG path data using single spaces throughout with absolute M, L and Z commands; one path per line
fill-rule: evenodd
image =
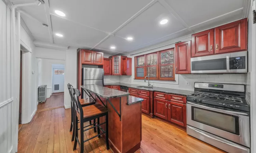
M 64 92 L 64 69 L 53 68 L 53 93 Z

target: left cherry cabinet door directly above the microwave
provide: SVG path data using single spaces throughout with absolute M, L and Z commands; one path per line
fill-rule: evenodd
M 192 35 L 191 57 L 214 54 L 214 29 Z

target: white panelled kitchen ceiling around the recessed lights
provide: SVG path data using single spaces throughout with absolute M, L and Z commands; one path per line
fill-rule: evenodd
M 246 17 L 250 0 L 44 0 L 21 13 L 34 40 L 126 54 Z M 34 0 L 13 0 L 14 4 Z M 55 10 L 62 11 L 59 17 Z M 167 24 L 159 24 L 168 19 Z M 49 25 L 43 27 L 42 23 Z M 55 34 L 60 33 L 63 37 Z M 133 40 L 127 40 L 133 37 Z M 115 46 L 116 49 L 110 49 Z

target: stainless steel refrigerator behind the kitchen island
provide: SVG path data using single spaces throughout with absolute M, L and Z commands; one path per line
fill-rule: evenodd
M 104 85 L 104 70 L 101 68 L 82 68 L 82 85 L 96 84 Z M 82 92 L 81 98 L 88 98 L 87 94 Z

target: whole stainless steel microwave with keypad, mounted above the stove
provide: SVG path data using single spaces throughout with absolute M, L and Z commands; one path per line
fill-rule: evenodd
M 247 73 L 247 51 L 191 58 L 191 73 Z

